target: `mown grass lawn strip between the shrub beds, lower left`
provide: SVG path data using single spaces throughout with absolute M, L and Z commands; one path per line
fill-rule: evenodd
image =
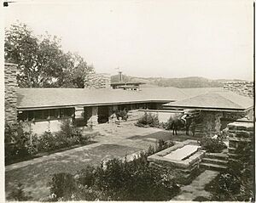
M 102 144 L 92 149 L 75 151 L 69 155 L 55 155 L 47 161 L 25 166 L 5 173 L 5 189 L 7 200 L 9 193 L 18 183 L 22 183 L 26 195 L 32 200 L 44 200 L 49 195 L 49 182 L 51 175 L 58 172 L 75 173 L 85 165 L 98 165 L 102 160 L 114 157 L 124 157 L 141 149 L 121 146 L 118 144 Z

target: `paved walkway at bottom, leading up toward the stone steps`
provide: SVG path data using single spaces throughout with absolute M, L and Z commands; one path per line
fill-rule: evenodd
M 181 188 L 181 192 L 172 200 L 195 200 L 196 197 L 209 198 L 210 193 L 205 190 L 207 183 L 210 183 L 213 178 L 218 175 L 219 172 L 214 172 L 211 170 L 206 170 L 202 172 L 195 180 L 189 185 L 185 185 Z

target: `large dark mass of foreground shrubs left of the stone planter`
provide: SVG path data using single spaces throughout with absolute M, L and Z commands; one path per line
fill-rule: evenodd
M 51 193 L 56 200 L 171 200 L 179 191 L 177 184 L 171 175 L 162 174 L 147 161 L 148 155 L 170 145 L 161 140 L 133 161 L 113 159 L 101 166 L 86 166 L 69 180 L 75 189 L 66 189 L 61 178 L 55 180 L 58 186 L 54 184 Z

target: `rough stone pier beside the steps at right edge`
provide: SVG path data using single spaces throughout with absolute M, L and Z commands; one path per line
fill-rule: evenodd
M 235 121 L 229 127 L 229 158 L 236 159 L 236 149 L 253 142 L 253 121 Z M 252 152 L 253 153 L 253 152 Z

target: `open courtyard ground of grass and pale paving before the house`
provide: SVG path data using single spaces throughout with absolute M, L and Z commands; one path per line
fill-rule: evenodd
M 96 141 L 94 144 L 6 166 L 7 200 L 10 200 L 10 193 L 18 183 L 22 183 L 24 192 L 32 196 L 32 200 L 45 200 L 49 196 L 47 183 L 55 173 L 74 174 L 86 165 L 96 166 L 102 161 L 123 158 L 125 155 L 128 159 L 132 159 L 139 151 L 148 149 L 150 145 L 154 146 L 160 138 L 163 140 L 188 138 L 181 135 L 182 133 L 172 137 L 172 132 L 160 128 L 136 127 L 132 122 L 121 125 L 101 124 L 96 126 L 94 131 L 100 133 L 93 138 Z

